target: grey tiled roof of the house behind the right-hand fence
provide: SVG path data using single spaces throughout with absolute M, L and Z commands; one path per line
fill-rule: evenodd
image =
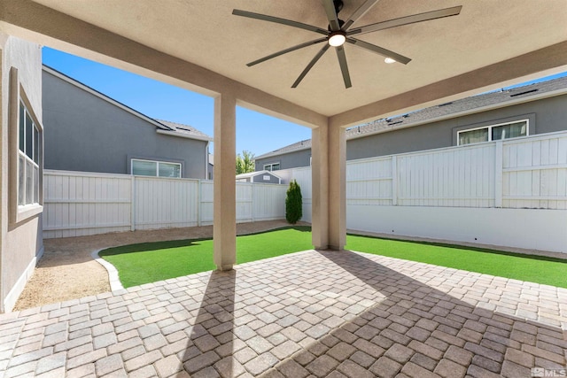
M 550 81 L 540 81 L 514 89 L 501 89 L 478 96 L 470 96 L 449 103 L 424 108 L 416 112 L 350 127 L 346 130 L 346 139 L 361 138 L 405 127 L 416 127 L 425 123 L 448 120 L 467 114 L 486 112 L 505 106 L 523 104 L 549 96 L 560 96 L 564 94 L 567 94 L 567 76 Z M 311 139 L 307 139 L 257 156 L 256 159 L 271 158 L 298 150 L 308 150 L 310 148 Z

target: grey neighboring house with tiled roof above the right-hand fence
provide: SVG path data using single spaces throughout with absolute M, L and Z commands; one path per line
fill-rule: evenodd
M 420 126 L 420 127 L 416 127 Z M 470 96 L 346 130 L 346 159 L 431 150 L 567 129 L 567 77 Z M 311 140 L 255 158 L 256 170 L 311 165 Z

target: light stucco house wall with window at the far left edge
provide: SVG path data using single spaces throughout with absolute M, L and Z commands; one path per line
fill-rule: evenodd
M 43 255 L 42 50 L 0 33 L 0 62 L 0 312 L 10 312 Z

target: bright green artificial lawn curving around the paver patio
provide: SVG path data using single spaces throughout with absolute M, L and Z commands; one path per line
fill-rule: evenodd
M 237 264 L 311 248 L 306 227 L 237 236 Z M 346 249 L 567 288 L 567 260 L 558 258 L 360 235 L 347 235 Z M 132 244 L 100 256 L 118 269 L 126 288 L 215 268 L 210 239 Z

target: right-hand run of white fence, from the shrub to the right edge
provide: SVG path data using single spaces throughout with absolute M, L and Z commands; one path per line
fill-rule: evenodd
M 311 221 L 311 168 L 297 180 Z M 346 227 L 567 252 L 567 132 L 346 163 Z

